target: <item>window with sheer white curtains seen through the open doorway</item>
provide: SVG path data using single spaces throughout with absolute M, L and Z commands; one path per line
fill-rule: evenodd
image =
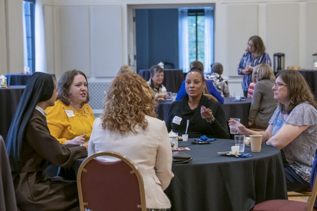
M 179 67 L 190 70 L 192 61 L 204 64 L 210 72 L 214 63 L 214 10 L 213 8 L 178 9 Z

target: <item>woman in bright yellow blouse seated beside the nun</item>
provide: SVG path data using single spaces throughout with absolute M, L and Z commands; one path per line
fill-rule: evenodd
M 88 141 L 94 124 L 86 75 L 79 70 L 61 74 L 57 83 L 55 106 L 48 107 L 46 119 L 50 133 L 61 144 L 82 144 Z

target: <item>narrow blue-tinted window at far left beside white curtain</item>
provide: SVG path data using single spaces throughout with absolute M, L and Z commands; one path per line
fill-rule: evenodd
M 35 72 L 35 0 L 23 0 L 24 66 Z

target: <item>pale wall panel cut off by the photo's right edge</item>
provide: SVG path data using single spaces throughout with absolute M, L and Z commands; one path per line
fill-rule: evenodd
M 317 53 L 317 2 L 307 3 L 307 59 L 305 68 L 313 69 L 312 54 Z

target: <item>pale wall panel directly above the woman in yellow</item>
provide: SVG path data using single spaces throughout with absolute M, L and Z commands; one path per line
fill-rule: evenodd
M 90 77 L 89 7 L 60 7 L 61 71 L 78 69 Z

